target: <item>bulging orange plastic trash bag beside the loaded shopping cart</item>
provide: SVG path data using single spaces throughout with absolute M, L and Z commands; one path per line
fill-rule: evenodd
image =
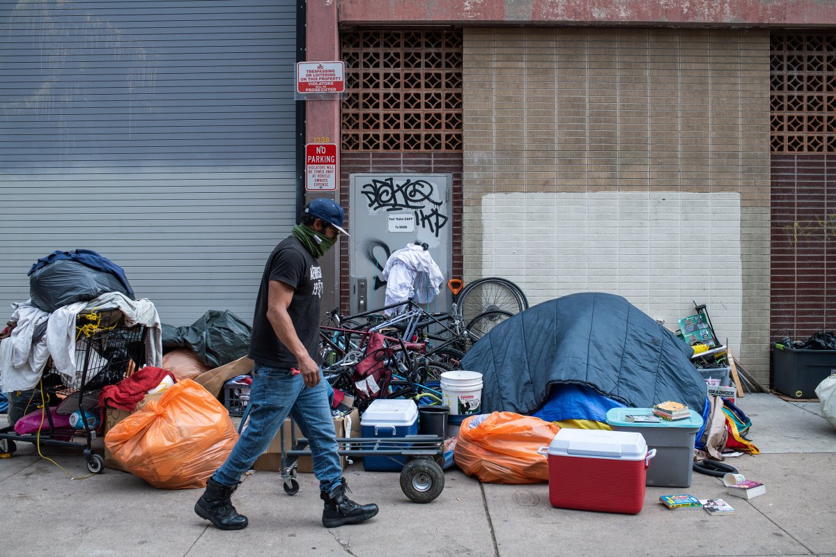
M 227 409 L 191 379 L 169 387 L 104 436 L 113 457 L 155 488 L 206 487 L 238 434 Z

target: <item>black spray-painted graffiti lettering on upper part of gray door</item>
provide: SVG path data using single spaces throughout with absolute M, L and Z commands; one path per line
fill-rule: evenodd
M 415 214 L 415 224 L 426 228 L 436 235 L 450 220 L 438 209 L 443 204 L 441 194 L 436 187 L 426 180 L 395 178 L 385 180 L 371 180 L 364 184 L 360 193 L 369 200 L 371 210 L 402 211 L 412 210 Z

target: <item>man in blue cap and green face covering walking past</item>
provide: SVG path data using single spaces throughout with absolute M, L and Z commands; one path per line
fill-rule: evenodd
M 247 517 L 232 506 L 232 493 L 273 441 L 290 413 L 310 444 L 314 474 L 325 502 L 328 528 L 358 524 L 378 512 L 346 494 L 337 453 L 329 397 L 333 391 L 319 371 L 319 305 L 322 270 L 317 259 L 334 246 L 343 230 L 344 211 L 334 200 L 317 199 L 305 208 L 301 224 L 273 250 L 258 290 L 249 357 L 252 387 L 247 424 L 227 462 L 212 475 L 195 512 L 219 529 L 247 528 Z

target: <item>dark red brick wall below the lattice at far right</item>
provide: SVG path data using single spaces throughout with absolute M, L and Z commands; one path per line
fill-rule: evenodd
M 836 154 L 772 154 L 772 338 L 836 329 Z

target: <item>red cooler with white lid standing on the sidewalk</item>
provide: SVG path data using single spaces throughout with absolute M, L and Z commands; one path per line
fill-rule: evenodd
M 641 433 L 562 428 L 548 447 L 548 499 L 560 509 L 637 514 L 650 458 Z

